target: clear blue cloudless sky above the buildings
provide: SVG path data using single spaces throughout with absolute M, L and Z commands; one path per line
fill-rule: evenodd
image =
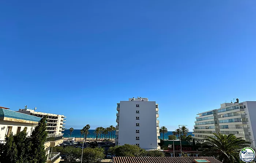
M 233 98 L 256 100 L 256 1 L 0 2 L 0 106 L 116 124 L 147 97 L 173 131 Z

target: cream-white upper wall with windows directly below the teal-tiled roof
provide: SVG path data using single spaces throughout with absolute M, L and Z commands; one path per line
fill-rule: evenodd
M 7 134 L 8 126 L 12 126 L 12 132 L 14 135 L 17 133 L 18 127 L 21 127 L 20 131 L 23 131 L 24 128 L 27 127 L 27 133 L 28 135 L 31 135 L 32 130 L 35 128 L 35 126 L 37 126 L 37 124 L 0 120 L 0 140 L 5 139 L 5 134 Z

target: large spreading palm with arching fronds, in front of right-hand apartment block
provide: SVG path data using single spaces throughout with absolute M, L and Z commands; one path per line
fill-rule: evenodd
M 239 152 L 244 147 L 248 147 L 250 142 L 246 142 L 242 138 L 237 138 L 233 134 L 223 135 L 220 132 L 218 134 L 213 133 L 217 139 L 207 136 L 202 143 L 202 146 L 211 146 L 202 151 L 202 155 L 215 156 L 218 160 L 224 163 L 239 163 Z

